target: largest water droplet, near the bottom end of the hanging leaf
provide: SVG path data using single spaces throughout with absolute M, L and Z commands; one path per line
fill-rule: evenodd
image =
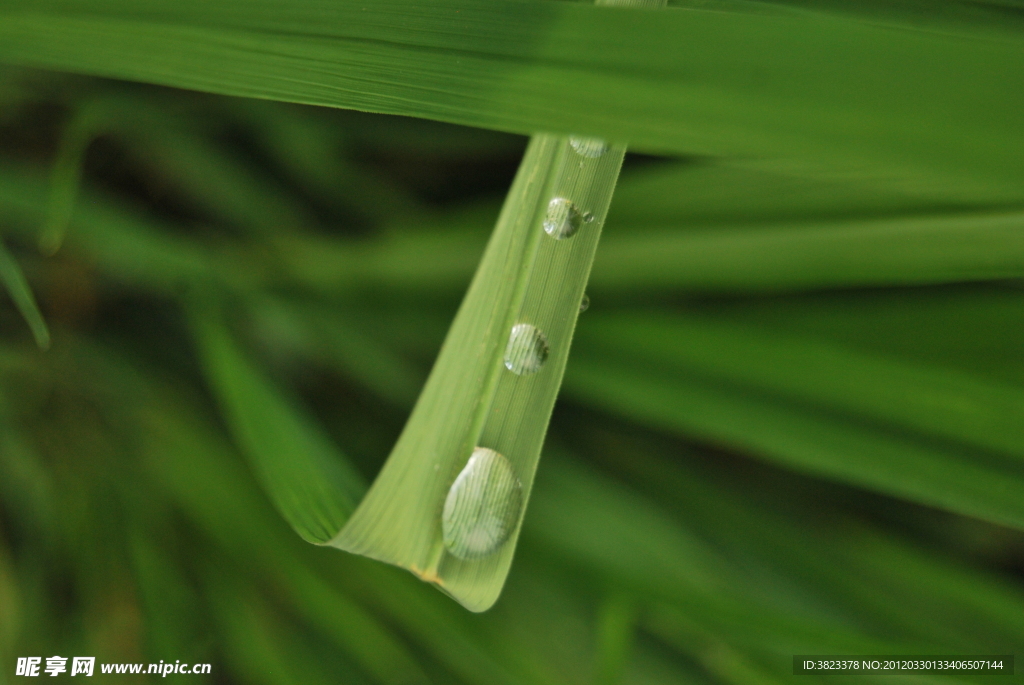
M 512 465 L 487 447 L 477 447 L 444 499 L 441 537 L 461 559 L 498 551 L 519 521 L 522 485 Z

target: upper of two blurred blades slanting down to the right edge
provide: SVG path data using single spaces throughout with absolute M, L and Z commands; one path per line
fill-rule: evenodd
M 636 353 L 662 369 L 1024 461 L 1016 420 L 1024 392 L 1009 383 L 703 316 L 595 316 L 588 329 L 591 349 L 608 358 Z

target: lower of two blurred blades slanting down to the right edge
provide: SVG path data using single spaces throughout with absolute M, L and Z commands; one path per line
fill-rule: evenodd
M 1024 526 L 1019 457 L 986 455 L 963 444 L 942 443 L 932 434 L 872 426 L 856 416 L 815 406 L 813 399 L 786 401 L 753 391 L 733 379 L 708 375 L 699 367 L 683 363 L 674 373 L 644 369 L 637 363 L 645 358 L 637 356 L 644 349 L 641 340 L 620 348 L 615 360 L 607 356 L 607 347 L 594 357 L 584 344 L 567 378 L 567 391 L 597 406 L 662 428 L 694 432 L 801 471 Z M 757 373 L 751 374 L 752 381 L 756 377 Z M 886 376 L 878 382 L 884 386 L 893 381 Z M 998 422 L 1000 415 L 986 420 Z

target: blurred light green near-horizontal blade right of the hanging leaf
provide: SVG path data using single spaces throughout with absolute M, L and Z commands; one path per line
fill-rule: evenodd
M 594 288 L 712 293 L 1018 279 L 1024 215 L 974 213 L 830 224 L 669 226 L 612 237 Z

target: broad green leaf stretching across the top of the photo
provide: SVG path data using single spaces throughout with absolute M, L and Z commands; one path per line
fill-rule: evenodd
M 1021 198 L 1018 37 L 744 6 L 8 0 L 0 60 Z

